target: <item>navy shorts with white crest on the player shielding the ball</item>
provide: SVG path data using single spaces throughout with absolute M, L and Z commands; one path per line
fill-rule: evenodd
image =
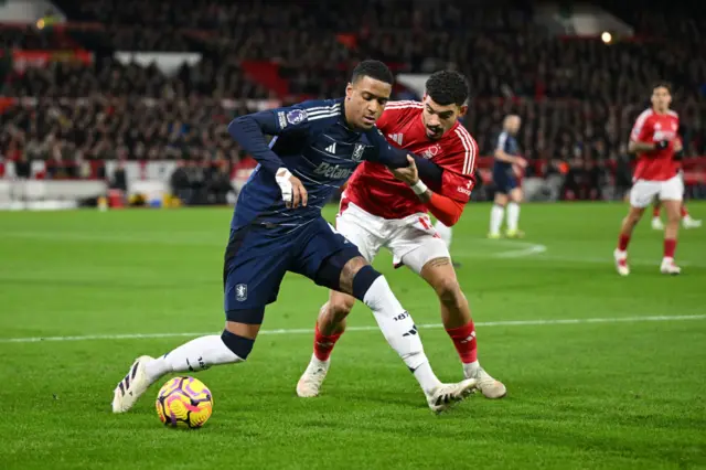
M 357 247 L 322 217 L 299 228 L 248 225 L 232 229 L 223 268 L 226 317 L 229 311 L 259 309 L 276 301 L 287 271 L 338 289 L 339 279 L 323 278 L 320 269 L 341 252 L 345 252 L 345 259 L 361 256 Z M 335 258 L 340 261 L 341 256 Z

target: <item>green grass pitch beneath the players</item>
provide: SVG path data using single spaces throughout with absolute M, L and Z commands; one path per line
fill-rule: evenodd
M 706 218 L 706 204 L 691 210 Z M 126 415 L 110 400 L 137 355 L 222 329 L 231 210 L 2 213 L 0 468 L 706 468 L 706 228 L 681 232 L 683 275 L 664 277 L 643 221 L 619 278 L 624 211 L 528 204 L 515 242 L 485 239 L 490 206 L 467 207 L 452 254 L 505 399 L 435 416 L 361 305 L 322 396 L 297 398 L 327 291 L 291 275 L 247 363 L 194 374 L 215 402 L 196 431 L 160 424 L 161 383 Z M 437 375 L 459 381 L 432 291 L 387 254 L 375 266 Z

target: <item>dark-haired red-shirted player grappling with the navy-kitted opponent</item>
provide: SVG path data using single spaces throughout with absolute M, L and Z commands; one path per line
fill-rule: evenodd
M 336 229 L 355 244 L 368 261 L 381 247 L 393 254 L 395 266 L 407 266 L 421 276 L 439 297 L 441 318 L 463 364 L 463 374 L 475 378 L 489 398 L 505 396 L 505 386 L 478 362 L 475 328 L 466 296 L 451 265 L 446 243 L 436 233 L 431 212 L 445 225 L 456 224 L 474 184 L 478 146 L 458 121 L 468 109 L 469 90 L 463 75 L 441 71 L 426 83 L 421 103 L 391 102 L 377 121 L 388 141 L 426 157 L 443 169 L 439 188 L 427 188 L 416 168 L 396 170 L 363 162 L 351 177 L 341 200 Z M 297 384 L 300 397 L 319 395 L 330 365 L 331 351 L 345 330 L 345 318 L 355 299 L 331 291 L 321 308 L 314 333 L 313 355 Z M 408 334 L 418 334 L 416 328 Z

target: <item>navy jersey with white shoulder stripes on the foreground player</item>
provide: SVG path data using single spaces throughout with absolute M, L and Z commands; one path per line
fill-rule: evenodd
M 238 196 L 232 221 L 295 229 L 321 215 L 323 205 L 374 147 L 362 131 L 345 124 L 343 98 L 304 102 L 257 113 L 276 121 L 270 149 L 309 193 L 306 207 L 287 209 L 271 171 L 258 164 Z

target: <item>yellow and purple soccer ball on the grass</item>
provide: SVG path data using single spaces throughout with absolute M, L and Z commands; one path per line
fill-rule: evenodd
M 213 413 L 211 391 L 197 378 L 174 377 L 157 395 L 157 415 L 164 426 L 200 428 Z

